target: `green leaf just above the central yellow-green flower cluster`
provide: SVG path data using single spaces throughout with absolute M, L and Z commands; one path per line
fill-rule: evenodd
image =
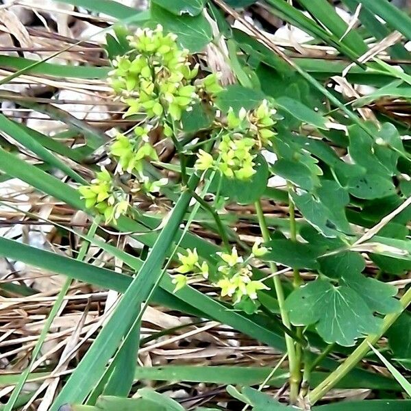
M 263 99 L 264 93 L 260 90 L 232 84 L 219 92 L 216 97 L 216 106 L 223 112 L 227 112 L 232 107 L 234 112 L 238 113 L 241 108 L 245 108 L 245 110 L 256 108 Z

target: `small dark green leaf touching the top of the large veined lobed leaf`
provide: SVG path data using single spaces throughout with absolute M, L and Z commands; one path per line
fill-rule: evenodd
M 339 279 L 346 273 L 361 273 L 365 268 L 365 260 L 360 253 L 344 251 L 319 258 L 319 271 L 329 278 Z

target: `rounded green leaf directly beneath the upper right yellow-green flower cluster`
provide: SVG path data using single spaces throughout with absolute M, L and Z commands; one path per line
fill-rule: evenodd
M 221 178 L 221 195 L 229 197 L 240 204 L 251 204 L 264 193 L 269 179 L 269 166 L 262 155 L 254 160 L 256 173 L 247 181 L 217 175 L 216 182 Z M 213 182 L 214 184 L 214 182 Z M 218 186 L 218 184 L 216 184 Z

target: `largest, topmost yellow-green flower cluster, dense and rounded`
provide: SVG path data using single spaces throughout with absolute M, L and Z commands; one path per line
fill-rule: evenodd
M 192 85 L 198 66 L 191 68 L 188 50 L 180 49 L 175 34 L 162 27 L 138 29 L 129 36 L 132 52 L 112 62 L 110 83 L 129 105 L 125 115 L 145 112 L 153 117 L 170 116 L 179 121 L 198 99 Z

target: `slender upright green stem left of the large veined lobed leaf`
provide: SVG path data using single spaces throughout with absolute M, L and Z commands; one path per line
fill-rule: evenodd
M 256 212 L 258 216 L 258 223 L 260 224 L 260 229 L 262 233 L 262 238 L 265 242 L 271 240 L 269 228 L 266 225 L 266 221 L 264 218 L 264 212 L 262 211 L 260 200 L 254 203 L 256 207 Z M 273 273 L 277 271 L 277 266 L 275 263 L 270 262 L 270 269 Z M 275 293 L 277 294 L 277 301 L 279 306 L 279 313 L 281 315 L 282 323 L 288 329 L 291 329 L 290 319 L 288 319 L 288 312 L 285 308 L 285 298 L 284 298 L 284 290 L 282 288 L 281 279 L 279 275 L 275 275 L 273 277 Z M 296 369 L 296 356 L 295 356 L 295 347 L 294 347 L 294 340 L 288 335 L 285 334 L 286 338 L 286 347 L 288 353 L 288 367 L 290 369 L 290 403 L 296 403 L 297 397 L 299 393 L 299 379 L 296 379 L 295 369 Z

